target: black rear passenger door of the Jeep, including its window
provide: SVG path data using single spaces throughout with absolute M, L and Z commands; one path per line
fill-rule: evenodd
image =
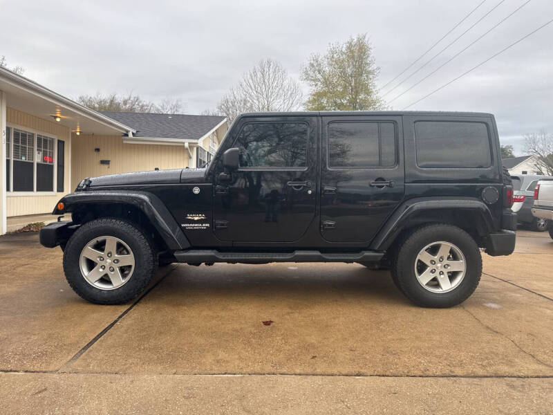
M 368 243 L 404 197 L 402 118 L 323 117 L 322 125 L 321 233 Z

